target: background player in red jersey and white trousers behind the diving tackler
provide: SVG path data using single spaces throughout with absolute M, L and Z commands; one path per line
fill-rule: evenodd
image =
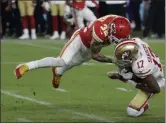
M 98 6 L 96 0 L 92 0 Z M 85 0 L 66 0 L 66 4 L 72 8 L 76 28 L 84 27 L 84 19 L 88 22 L 94 22 L 97 18 L 95 14 L 85 5 Z

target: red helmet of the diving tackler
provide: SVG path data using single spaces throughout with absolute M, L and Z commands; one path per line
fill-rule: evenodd
M 114 18 L 109 24 L 109 41 L 119 43 L 121 40 L 129 38 L 131 32 L 130 21 L 122 16 Z

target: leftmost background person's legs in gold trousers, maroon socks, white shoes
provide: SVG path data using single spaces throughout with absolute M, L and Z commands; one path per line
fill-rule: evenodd
M 34 19 L 34 0 L 18 0 L 18 7 L 21 15 L 23 35 L 19 39 L 29 39 L 28 19 L 30 22 L 31 39 L 36 39 L 35 19 Z M 27 18 L 28 17 L 28 18 Z

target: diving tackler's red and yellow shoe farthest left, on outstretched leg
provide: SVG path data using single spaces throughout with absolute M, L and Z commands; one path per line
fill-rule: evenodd
M 16 67 L 14 73 L 15 73 L 15 76 L 17 77 L 17 79 L 20 79 L 22 77 L 22 75 L 28 70 L 29 70 L 29 68 L 27 65 L 20 64 Z

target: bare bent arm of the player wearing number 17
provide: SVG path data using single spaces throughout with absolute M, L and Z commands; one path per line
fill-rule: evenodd
M 150 93 L 160 93 L 160 87 L 153 75 L 148 75 L 142 79 L 142 82 L 138 83 L 136 88 Z

